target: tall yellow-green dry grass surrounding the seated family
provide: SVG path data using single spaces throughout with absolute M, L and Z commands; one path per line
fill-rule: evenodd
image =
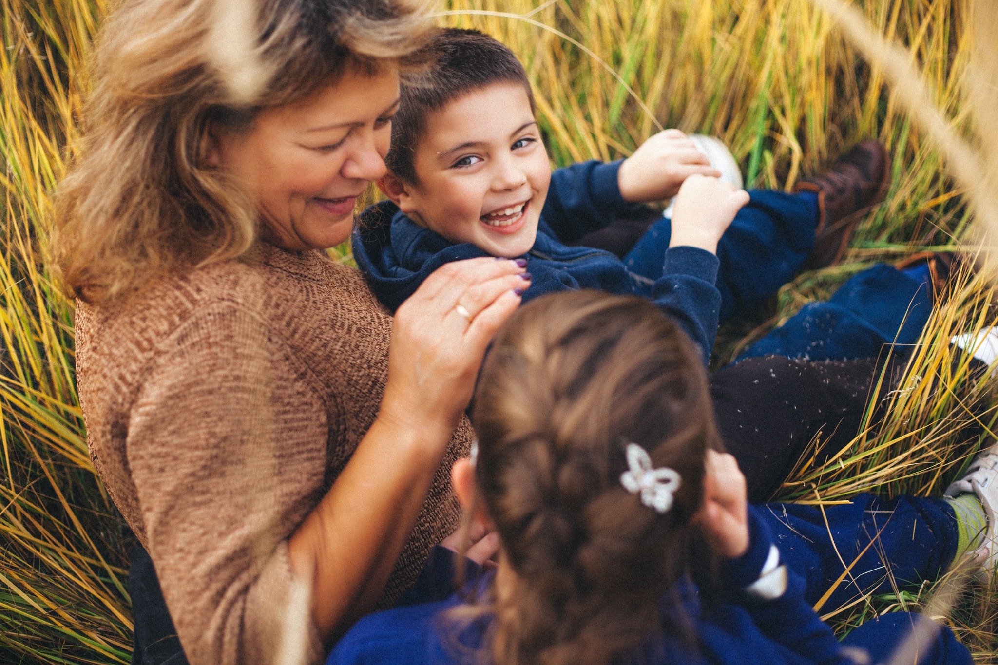
M 50 195 L 72 155 L 90 41 L 107 4 L 0 0 L 4 662 L 128 660 L 122 584 L 129 538 L 89 463 L 74 386 L 72 303 L 44 260 Z M 859 7 L 923 77 L 924 103 L 940 111 L 949 131 L 970 137 L 968 100 L 983 95 L 972 84 L 986 71 L 969 68 L 970 5 L 866 0 Z M 775 310 L 730 326 L 721 360 L 753 329 L 759 334 L 873 261 L 968 237 L 973 217 L 939 144 L 912 123 L 885 70 L 858 56 L 809 0 L 449 0 L 444 11 L 442 22 L 485 30 L 523 59 L 556 165 L 624 156 L 660 127 L 679 127 L 725 140 L 749 183 L 789 187 L 857 139 L 875 136 L 890 147 L 887 202 L 862 223 L 846 262 L 801 275 Z M 990 404 L 988 387 L 972 385 L 966 362 L 945 343 L 954 332 L 994 325 L 992 296 L 983 277 L 956 289 L 890 397 L 886 421 L 868 423 L 828 465 L 802 464 L 783 496 L 937 493 L 992 426 L 992 412 L 980 406 Z M 981 662 L 993 662 L 993 594 L 972 591 L 948 620 Z M 931 592 L 926 585 L 919 595 L 866 598 L 831 618 L 846 630 L 878 611 L 920 607 Z

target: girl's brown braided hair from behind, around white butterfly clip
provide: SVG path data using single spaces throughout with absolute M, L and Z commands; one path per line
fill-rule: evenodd
M 478 496 L 503 541 L 496 661 L 608 662 L 641 642 L 688 568 L 716 447 L 693 343 L 646 300 L 540 298 L 497 336 L 474 422 Z M 679 474 L 665 511 L 622 483 L 630 444 Z

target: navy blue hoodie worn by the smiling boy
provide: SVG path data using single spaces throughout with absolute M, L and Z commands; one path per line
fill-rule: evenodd
M 715 286 L 718 257 L 696 247 L 672 247 L 665 273 L 655 282 L 634 275 L 617 256 L 573 247 L 590 231 L 633 209 L 617 185 L 620 162 L 585 162 L 551 174 L 537 240 L 524 256 L 533 275 L 524 301 L 571 289 L 591 288 L 653 299 L 700 347 L 707 363 L 718 332 L 721 293 Z M 372 205 L 353 232 L 353 257 L 378 300 L 394 312 L 444 263 L 488 256 L 470 242 L 453 243 L 423 228 L 391 201 Z

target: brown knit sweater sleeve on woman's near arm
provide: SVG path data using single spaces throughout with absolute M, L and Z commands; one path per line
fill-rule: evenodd
M 201 310 L 160 347 L 130 412 L 127 458 L 188 659 L 276 662 L 287 628 L 317 662 L 308 612 L 289 606 L 289 533 L 277 506 L 303 516 L 316 500 L 293 493 L 321 486 L 326 412 L 281 343 L 241 307 Z M 318 479 L 281 482 L 288 467 Z

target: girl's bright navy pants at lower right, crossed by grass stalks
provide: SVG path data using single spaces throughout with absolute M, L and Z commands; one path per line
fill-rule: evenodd
M 822 614 L 895 585 L 917 589 L 923 580 L 938 578 L 956 554 L 956 518 L 942 499 L 881 500 L 864 494 L 849 504 L 825 506 L 823 514 L 799 503 L 760 507 L 783 561 L 806 581 L 807 601 L 816 604 L 834 586 L 818 610 Z M 839 581 L 850 564 L 850 573 Z M 905 665 L 973 663 L 949 628 L 907 612 L 866 621 L 842 642 L 864 649 L 871 665 L 890 662 L 895 651 L 906 648 L 913 655 Z

